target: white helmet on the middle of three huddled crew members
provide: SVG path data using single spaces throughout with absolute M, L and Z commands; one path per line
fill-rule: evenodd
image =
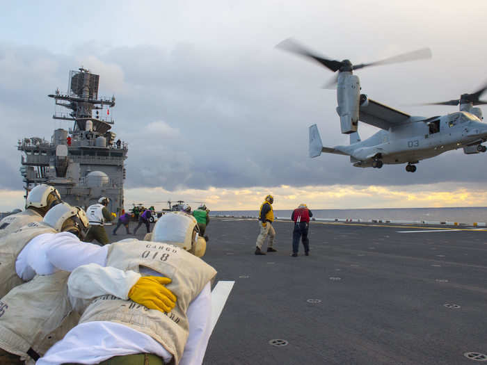
M 58 232 L 70 232 L 80 240 L 85 238 L 90 225 L 85 211 L 79 206 L 61 203 L 49 209 L 42 222 L 53 227 Z

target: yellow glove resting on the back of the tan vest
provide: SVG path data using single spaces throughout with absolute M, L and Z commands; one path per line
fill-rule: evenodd
M 131 287 L 129 298 L 149 309 L 167 313 L 176 306 L 176 295 L 166 288 L 172 282 L 168 277 L 143 276 Z

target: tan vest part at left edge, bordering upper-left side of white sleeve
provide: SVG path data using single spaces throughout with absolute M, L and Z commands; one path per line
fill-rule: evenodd
M 0 298 L 24 282 L 15 271 L 15 261 L 25 245 L 32 238 L 43 233 L 57 233 L 57 231 L 44 222 L 30 222 L 0 238 Z

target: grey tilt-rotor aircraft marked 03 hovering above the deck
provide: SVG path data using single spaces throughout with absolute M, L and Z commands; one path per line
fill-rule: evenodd
M 458 105 L 460 111 L 435 117 L 411 116 L 390 106 L 360 94 L 360 80 L 353 70 L 363 67 L 399 63 L 409 60 L 431 58 L 429 49 L 420 49 L 374 63 L 353 65 L 349 60 L 330 60 L 305 49 L 296 41 L 288 39 L 277 46 L 280 49 L 311 58 L 329 70 L 337 72 L 332 83 L 337 83 L 337 113 L 340 115 L 342 133 L 349 134 L 350 145 L 323 147 L 318 127 L 310 127 L 310 157 L 321 152 L 350 156 L 350 162 L 359 168 L 382 168 L 383 164 L 407 163 L 406 171 L 415 172 L 416 163 L 438 156 L 451 149 L 463 148 L 465 154 L 486 152 L 481 145 L 487 140 L 487 124 L 481 122 L 482 111 L 476 105 L 487 104 L 479 100 L 487 85 L 463 94 L 460 99 L 424 105 Z M 358 121 L 378 127 L 378 131 L 366 140 L 357 133 Z

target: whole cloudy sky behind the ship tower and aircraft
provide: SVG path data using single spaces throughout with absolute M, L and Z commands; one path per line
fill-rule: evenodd
M 115 131 L 129 143 L 131 202 L 205 201 L 213 210 L 487 206 L 487 156 L 447 152 L 404 165 L 354 168 L 346 156 L 308 158 L 308 127 L 324 145 L 340 133 L 331 72 L 275 48 L 292 37 L 353 63 L 430 47 L 431 60 L 356 72 L 362 92 L 426 117 L 487 82 L 487 2 L 1 1 L 0 210 L 22 206 L 19 138 L 51 138 L 70 70 L 100 75 L 115 95 Z M 487 114 L 487 111 L 484 111 Z M 377 129 L 359 125 L 362 139 Z M 162 206 L 162 204 L 161 204 Z

